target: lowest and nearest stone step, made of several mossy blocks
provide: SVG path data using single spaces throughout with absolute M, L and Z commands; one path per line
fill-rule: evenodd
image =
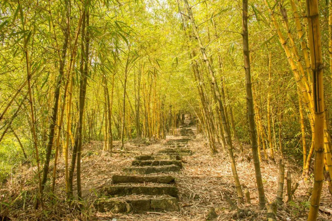
M 101 198 L 94 203 L 94 207 L 98 212 L 112 213 L 172 212 L 179 210 L 178 199 L 171 196 L 144 199 Z

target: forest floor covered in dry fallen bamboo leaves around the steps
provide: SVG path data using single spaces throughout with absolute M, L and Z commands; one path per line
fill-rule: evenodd
M 192 128 L 196 131 L 196 128 Z M 167 136 L 166 139 L 174 138 Z M 9 220 L 119 220 L 119 221 L 157 221 L 157 220 L 206 220 L 210 207 L 215 208 L 218 221 L 237 220 L 232 215 L 234 210 L 225 200 L 228 195 L 236 201 L 234 179 L 229 166 L 228 157 L 223 153 L 221 147 L 219 153 L 211 156 L 202 135 L 198 134 L 195 139 L 188 143 L 188 149 L 194 151 L 193 155 L 183 157 L 183 169 L 174 174 L 176 186 L 179 189 L 180 211 L 177 212 L 146 212 L 144 214 L 112 214 L 99 213 L 93 208 L 93 202 L 98 198 L 98 192 L 111 181 L 113 174 L 119 174 L 122 168 L 130 166 L 135 156 L 140 154 L 151 154 L 161 149 L 164 141 L 155 142 L 150 145 L 137 145 L 137 142 L 127 142 L 125 148 L 127 153 L 103 152 L 102 142 L 90 142 L 84 145 L 82 152 L 82 188 L 85 198 L 85 206 L 82 214 L 73 209 L 77 204 L 68 205 L 65 202 L 64 193 L 64 166 L 60 162 L 58 177 L 56 180 L 55 196 L 48 193 L 48 199 L 44 208 L 33 209 L 33 200 L 29 194 L 36 190 L 36 167 L 27 168 L 23 166 L 21 172 L 13 175 L 1 186 L 0 217 L 6 215 Z M 255 185 L 255 172 L 249 145 L 244 145 L 244 153 L 240 154 L 238 144 L 235 144 L 235 158 L 237 172 L 243 190 L 248 188 L 251 196 L 251 204 L 241 204 L 239 208 L 248 208 L 253 214 L 242 220 L 266 220 L 266 210 L 259 210 L 258 192 Z M 115 142 L 115 149 L 120 146 Z M 263 158 L 263 157 L 262 157 Z M 278 156 L 277 156 L 278 162 Z M 50 168 L 52 170 L 52 168 Z M 262 178 L 265 194 L 268 202 L 273 202 L 276 197 L 278 184 L 278 164 L 273 161 L 263 160 L 261 163 Z M 298 182 L 299 187 L 294 193 L 294 200 L 284 203 L 278 207 L 278 220 L 306 220 L 309 202 L 304 202 L 307 185 L 301 178 L 301 168 L 290 161 L 285 162 L 286 171 L 299 171 L 292 173 L 293 183 Z M 75 183 L 76 181 L 74 181 Z M 148 184 L 153 185 L 153 184 Z M 284 186 L 284 201 L 286 201 L 286 180 Z M 47 191 L 46 191 L 47 192 Z M 46 193 L 47 194 L 47 193 Z M 14 200 L 15 199 L 15 200 Z M 331 195 L 327 192 L 327 184 L 324 183 L 321 197 L 321 207 L 332 208 Z M 0 219 L 1 220 L 1 219 Z M 320 221 L 331 221 L 332 215 L 328 212 L 319 211 Z

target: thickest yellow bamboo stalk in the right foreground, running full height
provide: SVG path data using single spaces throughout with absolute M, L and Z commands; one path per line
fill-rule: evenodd
M 308 37 L 310 46 L 310 62 L 313 77 L 314 104 L 314 149 L 315 167 L 314 184 L 311 195 L 308 221 L 315 221 L 318 215 L 320 195 L 324 174 L 324 89 L 323 89 L 323 60 L 320 41 L 318 0 L 307 0 Z

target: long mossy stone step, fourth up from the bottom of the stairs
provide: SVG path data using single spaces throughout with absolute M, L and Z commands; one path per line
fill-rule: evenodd
M 125 167 L 124 172 L 132 174 L 151 174 L 151 173 L 169 173 L 179 172 L 180 167 L 175 165 L 169 166 L 146 166 L 146 167 Z

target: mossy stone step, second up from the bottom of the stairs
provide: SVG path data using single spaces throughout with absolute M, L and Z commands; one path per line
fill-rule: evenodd
M 116 185 L 104 187 L 104 192 L 108 195 L 124 196 L 132 194 L 143 195 L 169 195 L 178 196 L 178 189 L 173 186 L 130 186 L 130 185 Z

